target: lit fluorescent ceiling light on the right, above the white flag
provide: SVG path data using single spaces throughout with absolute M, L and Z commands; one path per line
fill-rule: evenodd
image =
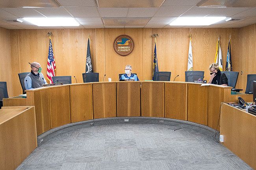
M 224 20 L 226 17 L 178 17 L 170 26 L 210 26 Z

